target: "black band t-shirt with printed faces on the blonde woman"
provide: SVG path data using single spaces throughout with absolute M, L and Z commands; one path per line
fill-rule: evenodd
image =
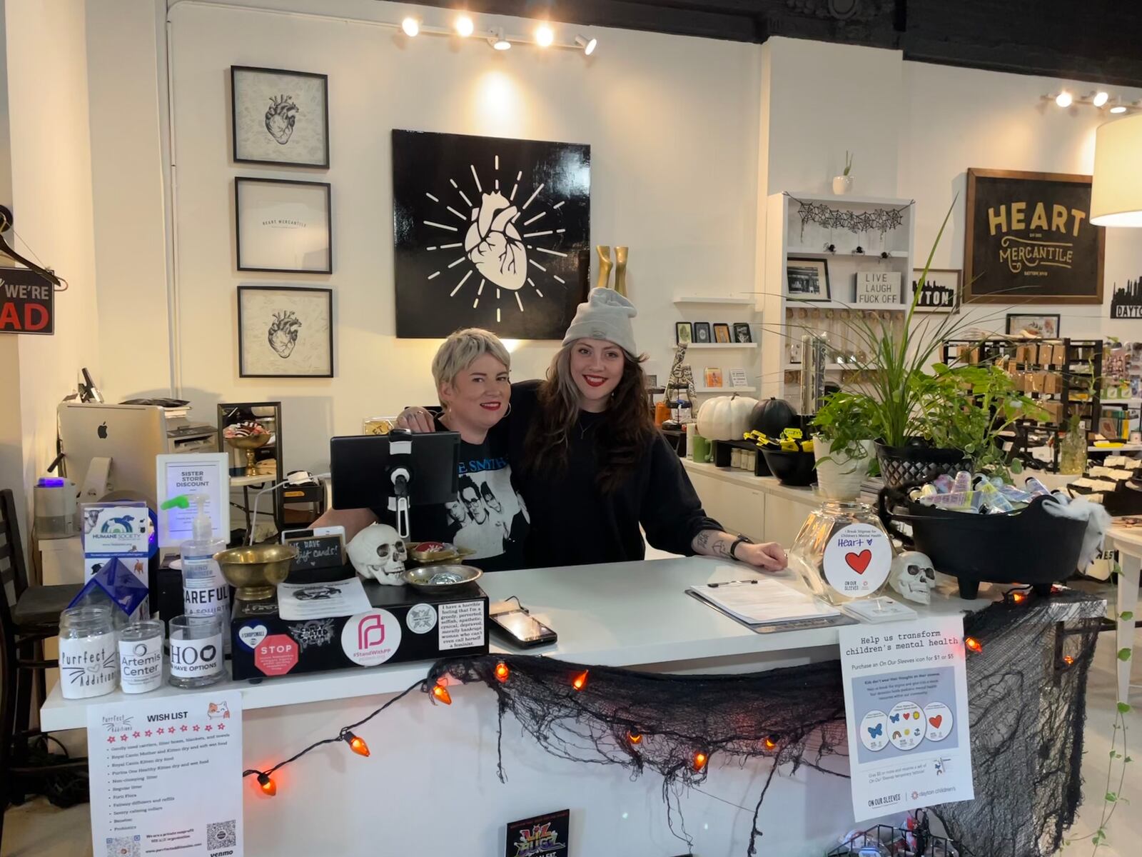
M 436 419 L 436 431 L 451 430 Z M 436 506 L 413 506 L 412 544 L 450 542 L 473 550 L 461 562 L 484 571 L 524 568 L 530 518 L 512 486 L 507 446 L 507 421 L 492 426 L 483 443 L 460 439 L 457 497 Z

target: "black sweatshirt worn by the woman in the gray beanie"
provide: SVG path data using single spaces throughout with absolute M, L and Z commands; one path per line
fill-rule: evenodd
M 640 523 L 651 545 L 684 555 L 694 553 L 691 543 L 699 532 L 722 529 L 702 511 L 678 454 L 659 432 L 622 484 L 604 494 L 596 482 L 594 436 L 605 431 L 603 414 L 579 413 L 563 472 L 530 471 L 524 443 L 537 417 L 538 387 L 538 381 L 513 384 L 508 415 L 512 476 L 531 513 L 529 568 L 641 560 Z

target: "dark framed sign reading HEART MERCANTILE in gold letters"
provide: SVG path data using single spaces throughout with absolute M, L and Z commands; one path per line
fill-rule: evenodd
M 964 303 L 1101 304 L 1091 176 L 967 170 Z

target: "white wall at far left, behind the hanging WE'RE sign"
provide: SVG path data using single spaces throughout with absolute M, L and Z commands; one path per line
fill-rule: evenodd
M 98 365 L 83 0 L 8 0 L 8 114 L 16 229 L 70 288 L 55 336 L 21 336 L 25 487 L 55 458 L 56 405 L 81 366 Z

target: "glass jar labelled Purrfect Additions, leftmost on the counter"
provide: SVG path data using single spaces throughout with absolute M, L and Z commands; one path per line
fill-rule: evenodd
M 115 625 L 106 607 L 59 614 L 59 689 L 64 699 L 110 694 L 119 683 Z

